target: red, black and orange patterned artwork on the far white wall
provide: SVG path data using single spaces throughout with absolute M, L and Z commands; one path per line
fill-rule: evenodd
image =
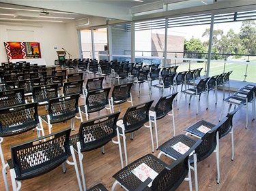
M 12 59 L 41 58 L 39 42 L 4 42 L 8 62 Z

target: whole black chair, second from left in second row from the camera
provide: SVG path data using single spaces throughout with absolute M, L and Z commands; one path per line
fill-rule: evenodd
M 79 96 L 79 94 L 71 94 L 50 99 L 48 101 L 48 114 L 39 117 L 40 126 L 43 128 L 42 122 L 46 122 L 49 133 L 51 133 L 52 124 L 71 120 L 71 129 L 74 131 L 74 118 L 78 118 L 83 122 L 79 108 Z M 76 114 L 79 114 L 79 116 L 76 116 Z

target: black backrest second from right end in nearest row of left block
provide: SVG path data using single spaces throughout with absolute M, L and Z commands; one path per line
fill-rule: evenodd
M 123 118 L 125 131 L 136 131 L 149 121 L 149 111 L 153 102 L 154 100 L 147 101 L 126 110 Z

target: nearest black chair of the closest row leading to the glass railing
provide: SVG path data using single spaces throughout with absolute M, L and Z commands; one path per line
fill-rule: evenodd
M 181 94 L 180 94 L 180 100 L 182 98 L 182 94 L 190 95 L 189 103 L 188 103 L 189 105 L 190 105 L 191 97 L 193 97 L 193 96 L 197 97 L 197 114 L 198 114 L 199 100 L 200 100 L 200 97 L 201 97 L 202 93 L 206 94 L 206 99 L 207 99 L 206 109 L 208 109 L 208 86 L 207 86 L 207 82 L 208 82 L 209 78 L 210 77 L 205 78 L 205 79 L 201 79 L 200 82 L 197 84 L 197 86 L 195 88 L 189 88 L 187 90 L 182 91 Z M 180 101 L 179 101 L 177 109 L 179 109 L 179 106 L 180 106 Z

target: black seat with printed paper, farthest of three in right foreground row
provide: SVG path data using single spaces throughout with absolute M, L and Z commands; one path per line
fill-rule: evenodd
M 199 120 L 198 122 L 195 122 L 194 124 L 185 128 L 184 131 L 196 135 L 197 137 L 203 137 L 203 135 L 205 135 L 205 133 L 207 133 L 207 131 L 212 129 L 214 126 L 215 125 L 210 122 Z

